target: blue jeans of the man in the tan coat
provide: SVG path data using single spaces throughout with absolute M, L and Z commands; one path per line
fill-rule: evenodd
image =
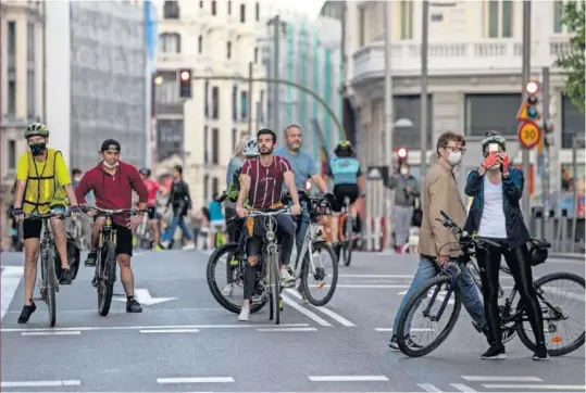
M 438 272 L 438 266 L 435 263 L 435 261 L 431 259 L 427 256 L 420 255 L 420 264 L 417 266 L 417 271 L 415 272 L 415 276 L 413 277 L 413 281 L 411 282 L 411 287 L 407 290 L 407 293 L 403 296 L 403 300 L 401 301 L 401 305 L 399 306 L 399 309 L 397 310 L 397 314 L 395 315 L 395 321 L 392 322 L 394 329 L 399 325 L 399 314 L 401 313 L 402 307 L 404 307 L 404 304 L 407 303 L 409 296 L 411 296 L 416 290 L 419 290 L 423 284 L 425 284 L 427 281 L 433 279 L 435 276 L 437 276 Z M 470 271 L 467 269 L 462 269 L 462 274 L 460 275 L 460 278 L 458 279 L 458 288 L 460 289 L 460 294 L 462 296 L 462 303 L 464 304 L 464 308 L 470 314 L 472 319 L 474 319 L 476 322 L 484 325 L 486 322 L 486 318 L 484 315 L 484 305 L 481 302 L 481 297 L 478 295 L 478 290 L 476 286 L 474 284 L 474 281 L 472 277 L 470 276 Z M 409 331 L 411 330 L 411 318 L 413 315 L 410 315 L 407 319 L 406 324 L 406 334 L 409 334 Z M 395 333 L 394 333 L 395 335 Z

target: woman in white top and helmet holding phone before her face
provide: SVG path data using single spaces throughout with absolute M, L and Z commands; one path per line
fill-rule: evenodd
M 484 161 L 467 177 L 465 193 L 473 196 L 464 229 L 481 238 L 500 244 L 488 245 L 478 252 L 484 308 L 491 333 L 490 347 L 484 359 L 507 357 L 500 329 L 498 306 L 499 267 L 504 256 L 515 284 L 525 304 L 525 312 L 535 333 L 537 348 L 533 358 L 547 359 L 541 308 L 533 287 L 533 275 L 527 242 L 529 232 L 523 220 L 520 200 L 523 194 L 523 172 L 509 165 L 504 139 L 495 131 L 482 140 Z

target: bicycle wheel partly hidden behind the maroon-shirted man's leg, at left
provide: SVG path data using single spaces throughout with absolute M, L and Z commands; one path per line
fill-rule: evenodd
M 215 299 L 215 301 L 224 308 L 226 308 L 230 313 L 240 314 L 241 306 L 242 306 L 242 299 L 238 297 L 235 301 L 238 303 L 233 303 L 230 299 L 225 296 L 222 293 L 222 290 L 217 286 L 217 281 L 215 278 L 215 268 L 217 265 L 223 265 L 221 261 L 225 258 L 226 264 L 229 263 L 229 261 L 236 257 L 238 261 L 240 259 L 240 256 L 238 255 L 238 243 L 226 243 L 222 245 L 221 248 L 217 248 L 214 250 L 212 255 L 210 256 L 210 259 L 208 259 L 208 266 L 205 268 L 205 277 L 208 280 L 208 288 L 210 289 L 210 292 L 212 293 L 212 296 Z M 226 275 L 225 268 L 222 266 L 222 274 L 223 276 Z M 234 284 L 244 284 L 244 271 L 241 270 L 240 264 L 238 264 L 237 267 L 234 268 L 233 271 L 233 278 L 234 278 Z M 263 297 L 263 302 L 261 304 L 252 304 L 250 306 L 250 313 L 257 313 L 259 312 L 264 305 L 266 304 L 266 300 Z

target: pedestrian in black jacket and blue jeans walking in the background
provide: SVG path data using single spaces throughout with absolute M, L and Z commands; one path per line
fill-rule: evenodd
M 165 249 L 169 248 L 175 236 L 175 230 L 177 229 L 177 226 L 179 226 L 183 236 L 187 239 L 187 244 L 185 244 L 183 249 L 195 249 L 196 243 L 194 241 L 194 234 L 185 223 L 185 216 L 187 216 L 187 212 L 191 210 L 191 195 L 189 193 L 189 186 L 183 181 L 183 167 L 180 165 L 175 165 L 173 168 L 173 183 L 167 201 L 167 208 L 169 207 L 173 211 L 173 218 L 171 219 L 166 232 L 161 237 L 161 245 Z

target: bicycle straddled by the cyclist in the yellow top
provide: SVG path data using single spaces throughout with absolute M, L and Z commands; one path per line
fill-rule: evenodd
M 40 241 L 40 279 L 39 297 L 33 297 L 33 301 L 42 301 L 49 308 L 49 325 L 54 328 L 57 321 L 57 292 L 59 292 L 59 277 L 57 272 L 57 250 L 53 240 L 53 233 L 51 232 L 49 220 L 52 217 L 65 218 L 71 216 L 71 213 L 50 212 L 47 214 L 25 214 L 25 217 L 29 219 L 42 220 L 42 240 Z M 61 271 L 61 266 L 60 266 Z

